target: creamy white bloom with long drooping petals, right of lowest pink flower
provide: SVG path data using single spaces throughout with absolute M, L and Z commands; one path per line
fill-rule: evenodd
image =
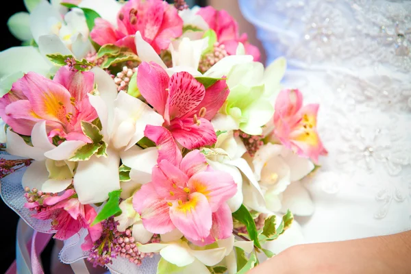
M 247 161 L 242 157 L 247 149 L 240 138 L 233 132 L 225 132 L 217 138 L 215 153 L 208 153 L 208 164 L 214 169 L 225 171 L 232 175 L 237 184 L 237 193 L 229 199 L 228 205 L 232 212 L 240 208 L 242 203 L 260 212 L 266 212 L 262 190 Z M 219 153 L 223 151 L 225 153 Z M 252 191 L 251 191 L 252 190 Z

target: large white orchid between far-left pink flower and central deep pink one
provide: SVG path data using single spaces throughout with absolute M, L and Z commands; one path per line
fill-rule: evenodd
M 108 73 L 99 67 L 93 68 L 92 72 L 99 95 L 89 95 L 89 98 L 103 126 L 108 157 L 97 158 L 94 155 L 90 160 L 78 163 L 73 184 L 79 201 L 84 204 L 105 201 L 109 192 L 120 188 L 120 159 L 132 168 L 130 176 L 134 184 L 151 180 L 158 150 L 155 147 L 138 149 L 135 144 L 144 136 L 146 125 L 164 123 L 162 116 L 146 103 L 125 92 L 117 92 Z M 143 175 L 142 181 L 139 181 L 139 175 Z

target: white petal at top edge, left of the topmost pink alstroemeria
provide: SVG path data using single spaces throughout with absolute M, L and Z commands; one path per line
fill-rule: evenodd
M 101 18 L 117 26 L 117 14 L 121 10 L 121 3 L 115 0 L 83 0 L 79 3 L 80 8 L 90 8 L 95 10 Z

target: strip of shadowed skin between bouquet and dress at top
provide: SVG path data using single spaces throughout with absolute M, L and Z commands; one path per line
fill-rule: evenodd
M 208 5 L 212 5 L 216 10 L 226 10 L 238 22 L 240 34 L 246 33 L 249 42 L 260 49 L 260 62 L 264 63 L 266 55 L 260 40 L 256 36 L 256 29 L 242 16 L 240 8 L 238 7 L 238 0 L 208 0 Z

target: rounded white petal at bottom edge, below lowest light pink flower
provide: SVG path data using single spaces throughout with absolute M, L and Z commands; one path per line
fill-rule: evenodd
M 195 257 L 190 253 L 190 248 L 188 247 L 186 242 L 167 245 L 160 250 L 160 255 L 167 262 L 171 262 L 172 264 L 180 267 L 191 264 L 195 260 Z

